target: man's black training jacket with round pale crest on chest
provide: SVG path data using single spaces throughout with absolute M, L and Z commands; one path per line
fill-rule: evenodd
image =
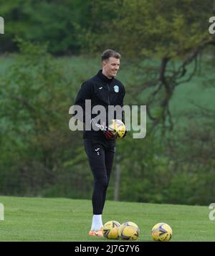
M 105 75 L 102 74 L 102 70 L 100 70 L 97 75 L 90 80 L 83 82 L 77 94 L 75 105 L 82 107 L 84 114 L 82 121 L 85 123 L 85 100 L 91 100 L 91 110 L 95 105 L 104 106 L 108 117 L 108 105 L 120 105 L 123 107 L 124 96 L 125 87 L 122 82 L 115 78 L 109 79 L 105 77 Z M 92 118 L 95 118 L 95 115 L 91 115 L 89 120 Z M 102 131 L 84 131 L 83 138 L 104 139 L 105 136 Z

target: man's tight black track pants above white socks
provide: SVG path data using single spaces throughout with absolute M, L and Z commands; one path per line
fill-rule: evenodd
M 85 151 L 94 176 L 93 214 L 102 214 L 115 154 L 115 141 L 85 138 Z

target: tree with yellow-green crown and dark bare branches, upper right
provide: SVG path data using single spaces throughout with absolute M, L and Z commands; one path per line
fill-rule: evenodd
M 163 133 L 173 128 L 169 103 L 176 87 L 191 80 L 204 49 L 215 45 L 208 31 L 213 8 L 210 0 L 115 0 L 95 6 L 92 19 L 104 9 L 113 17 L 102 19 L 97 32 L 91 29 L 95 48 L 118 49 L 129 58 L 129 65 L 142 61 L 143 80 L 129 88 L 130 93 L 150 93 L 145 100 L 148 117 L 152 128 L 163 125 Z M 100 34 L 101 29 L 105 33 Z

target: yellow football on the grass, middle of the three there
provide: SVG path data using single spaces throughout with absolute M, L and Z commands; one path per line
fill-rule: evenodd
M 121 240 L 137 240 L 140 229 L 134 222 L 125 222 L 119 228 L 119 237 Z

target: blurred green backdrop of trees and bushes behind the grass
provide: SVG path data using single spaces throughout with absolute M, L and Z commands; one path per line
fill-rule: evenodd
M 118 141 L 108 199 L 213 202 L 214 1 L 0 6 L 1 195 L 90 199 L 92 174 L 82 133 L 69 130 L 69 108 L 82 82 L 100 69 L 101 52 L 113 48 L 123 56 L 125 104 L 147 105 L 148 126 L 145 138 L 128 133 Z

